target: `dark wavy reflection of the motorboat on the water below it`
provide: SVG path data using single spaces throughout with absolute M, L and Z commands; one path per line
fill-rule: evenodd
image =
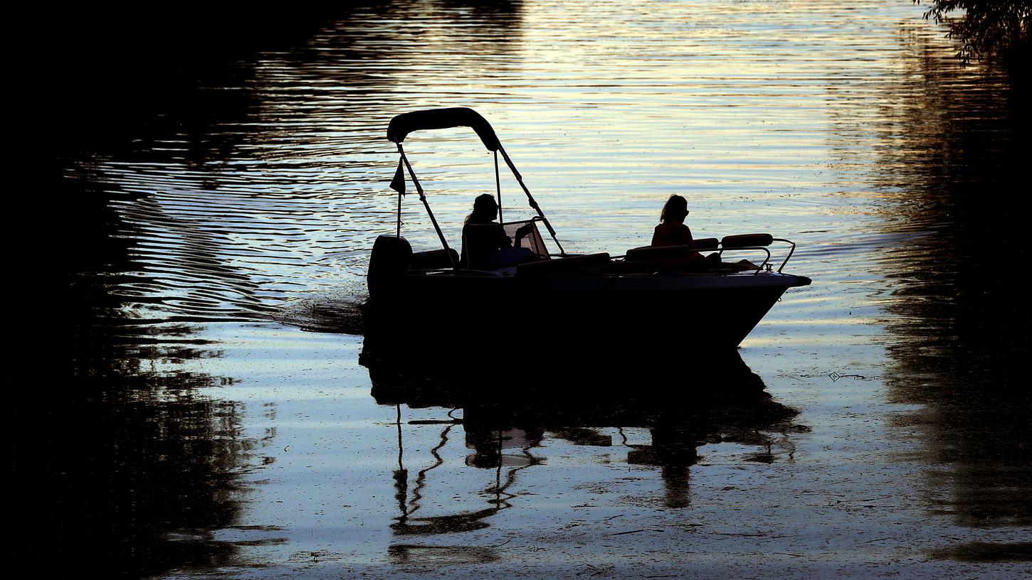
M 676 361 L 663 359 L 671 360 Z M 689 471 L 701 458 L 699 446 L 720 442 L 752 445 L 757 450 L 749 460 L 771 462 L 775 438 L 783 443 L 792 433 L 808 431 L 794 422 L 799 411 L 774 401 L 764 390 L 763 380 L 736 351 L 722 356 L 708 354 L 708 370 L 691 372 L 644 365 L 628 365 L 623 372 L 567 366 L 535 375 L 487 366 L 471 369 L 464 362 L 463 371 L 445 373 L 440 367 L 405 367 L 397 361 L 374 356 L 368 349 L 361 362 L 369 370 L 377 403 L 397 409 L 398 467 L 393 476 L 399 515 L 391 527 L 399 537 L 489 526 L 491 516 L 517 503 L 514 483 L 522 470 L 543 466 L 545 457 L 537 449 L 550 446 L 550 440 L 575 446 L 624 447 L 626 464 L 658 468 L 665 488 L 662 504 L 682 508 L 690 504 Z M 406 420 L 404 407 L 451 410 L 440 419 Z M 402 424 L 434 423 L 441 427 L 441 435 L 429 451 L 432 465 L 412 474 L 404 465 Z M 628 443 L 624 430 L 630 429 L 637 429 L 636 433 L 647 429 L 651 442 Z M 432 470 L 446 466 L 440 452 L 463 432 L 469 452 L 464 466 L 458 469 L 493 471 L 491 483 L 478 490 L 486 505 L 420 516 L 421 504 L 431 500 L 425 494 Z M 620 462 L 620 453 L 609 456 Z M 447 466 L 442 472 L 456 467 Z M 441 482 L 437 486 L 441 487 Z M 453 498 L 460 491 L 454 482 L 446 481 L 443 486 L 448 496 L 432 502 L 434 506 L 457 505 Z M 404 543 L 391 546 L 390 553 L 395 561 L 438 557 L 490 561 L 495 557 L 489 548 L 464 549 L 445 556 L 441 546 Z M 450 546 L 449 550 L 455 548 Z

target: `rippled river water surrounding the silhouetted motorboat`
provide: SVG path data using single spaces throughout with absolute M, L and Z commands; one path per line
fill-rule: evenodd
M 155 578 L 1032 573 L 1027 93 L 958 65 L 923 9 L 402 1 L 171 80 L 101 75 L 57 158 L 67 340 L 60 384 L 17 399 L 15 553 Z M 674 193 L 697 237 L 797 242 L 813 284 L 706 379 L 767 396 L 685 400 L 691 353 L 670 384 L 569 385 L 587 407 L 499 386 L 666 363 L 621 359 L 626 337 L 504 357 L 479 386 L 505 413 L 370 377 L 386 127 L 441 106 L 490 121 L 568 251 L 647 244 Z M 406 150 L 457 245 L 492 158 L 459 129 Z M 529 215 L 507 177 L 507 219 Z M 413 195 L 402 221 L 439 246 Z

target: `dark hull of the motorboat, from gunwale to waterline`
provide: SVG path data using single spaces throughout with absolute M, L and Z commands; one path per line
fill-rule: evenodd
M 729 350 L 809 279 L 727 275 L 404 275 L 364 308 L 366 350 L 476 361 Z

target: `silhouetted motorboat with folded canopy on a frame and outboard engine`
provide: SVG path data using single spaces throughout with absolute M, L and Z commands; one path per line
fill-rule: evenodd
M 512 249 L 460 260 L 433 216 L 404 142 L 414 131 L 453 127 L 472 128 L 493 153 L 499 217 L 499 157 L 535 212 L 530 219 L 499 218 Z M 771 234 L 697 239 L 694 248 L 568 253 L 494 130 L 473 109 L 399 114 L 387 139 L 399 155 L 390 185 L 398 194 L 398 217 L 395 234 L 378 237 L 369 259 L 366 348 L 433 352 L 446 364 L 473 364 L 491 352 L 523 361 L 577 353 L 604 364 L 603 353 L 612 350 L 735 349 L 788 288 L 810 284 L 805 276 L 783 272 L 796 244 Z M 414 251 L 401 235 L 409 181 L 441 248 Z M 517 231 L 525 235 L 517 239 Z M 776 268 L 772 248 L 784 252 Z M 698 252 L 717 260 L 692 260 Z

